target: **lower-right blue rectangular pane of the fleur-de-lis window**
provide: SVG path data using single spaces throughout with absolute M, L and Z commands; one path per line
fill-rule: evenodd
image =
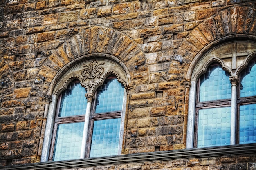
M 94 121 L 90 157 L 118 154 L 121 118 Z

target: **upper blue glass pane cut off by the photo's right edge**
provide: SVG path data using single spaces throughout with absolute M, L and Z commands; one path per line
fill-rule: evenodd
M 251 61 L 241 72 L 240 97 L 256 95 L 256 61 Z

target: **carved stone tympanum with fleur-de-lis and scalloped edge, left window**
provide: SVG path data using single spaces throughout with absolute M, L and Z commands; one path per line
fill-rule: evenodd
M 96 88 L 103 84 L 106 77 L 111 74 L 115 75 L 117 80 L 124 86 L 128 86 L 128 74 L 116 62 L 112 60 L 89 60 L 81 62 L 69 69 L 60 81 L 58 81 L 54 94 L 58 95 L 61 93 L 74 79 L 79 80 L 81 86 L 86 88 L 88 94 L 94 94 Z

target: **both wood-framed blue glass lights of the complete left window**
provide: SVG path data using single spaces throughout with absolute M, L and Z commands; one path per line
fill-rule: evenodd
M 71 82 L 59 95 L 54 121 L 50 161 L 79 159 L 87 109 L 87 91 L 79 81 Z M 124 86 L 109 76 L 96 91 L 88 124 L 85 157 L 111 156 L 119 153 Z

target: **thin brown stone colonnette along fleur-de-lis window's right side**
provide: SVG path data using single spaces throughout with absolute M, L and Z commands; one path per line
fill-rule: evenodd
M 121 154 L 126 154 L 125 153 L 125 141 L 126 141 L 126 130 L 127 130 L 127 122 L 128 122 L 128 113 L 129 113 L 129 106 L 130 106 L 130 90 L 133 88 L 133 86 L 126 86 L 125 90 L 127 93 L 127 103 L 126 103 L 126 112 L 125 112 L 125 117 L 124 117 L 124 137 L 123 137 L 123 142 L 122 142 L 122 151 Z

